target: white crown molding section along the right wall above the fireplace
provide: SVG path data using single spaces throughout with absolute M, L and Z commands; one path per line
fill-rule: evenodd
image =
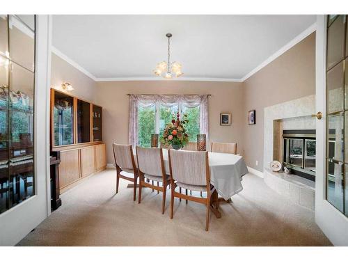
M 251 77 L 253 74 L 255 74 L 256 72 L 258 72 L 259 70 L 261 70 L 262 68 L 264 68 L 266 65 L 268 65 L 269 63 L 271 63 L 272 61 L 274 61 L 276 58 L 278 58 L 280 55 L 284 54 L 285 52 L 287 52 L 287 50 L 289 50 L 290 48 L 294 47 L 294 45 L 298 44 L 299 42 L 301 42 L 301 40 L 303 40 L 304 38 L 306 38 L 308 35 L 310 35 L 310 33 L 313 33 L 315 30 L 317 29 L 317 23 L 312 24 L 311 26 L 308 27 L 308 29 L 306 29 L 305 31 L 303 31 L 302 33 L 300 33 L 299 35 L 297 35 L 294 39 L 292 39 L 290 42 L 288 42 L 286 45 L 284 45 L 283 47 L 281 47 L 277 52 L 275 52 L 274 54 L 272 54 L 271 56 L 269 56 L 269 58 L 267 58 L 265 61 L 263 61 L 262 63 L 260 63 L 260 65 L 258 65 L 258 67 L 254 68 L 253 70 L 251 70 L 251 72 L 249 72 L 248 74 L 246 74 L 241 81 L 246 81 L 246 79 L 248 79 L 249 77 Z

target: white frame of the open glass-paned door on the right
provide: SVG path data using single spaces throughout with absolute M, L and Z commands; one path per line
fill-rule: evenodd
M 315 222 L 335 246 L 348 246 L 348 218 L 326 200 L 326 15 L 317 15 L 315 40 L 317 159 L 315 177 Z

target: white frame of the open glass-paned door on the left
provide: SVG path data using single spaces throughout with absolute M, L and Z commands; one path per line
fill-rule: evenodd
M 17 244 L 51 213 L 49 84 L 51 78 L 52 16 L 36 15 L 35 24 L 35 195 L 0 214 L 0 246 Z

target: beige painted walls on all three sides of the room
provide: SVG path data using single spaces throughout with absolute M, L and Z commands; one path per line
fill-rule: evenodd
M 127 93 L 211 94 L 209 138 L 237 142 L 246 164 L 263 171 L 264 107 L 315 93 L 315 33 L 299 42 L 244 81 L 104 81 L 95 82 L 52 54 L 52 86 L 68 81 L 72 95 L 103 106 L 103 140 L 107 162 L 113 162 L 111 144 L 128 143 Z M 256 110 L 256 125 L 248 125 L 247 112 Z M 221 112 L 232 113 L 232 125 L 220 126 Z M 255 161 L 258 161 L 256 166 Z

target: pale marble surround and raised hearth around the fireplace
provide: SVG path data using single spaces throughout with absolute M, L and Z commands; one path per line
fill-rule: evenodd
M 293 203 L 314 210 L 315 182 L 272 172 L 269 164 L 282 161 L 283 129 L 315 129 L 315 95 L 264 108 L 264 182 Z

